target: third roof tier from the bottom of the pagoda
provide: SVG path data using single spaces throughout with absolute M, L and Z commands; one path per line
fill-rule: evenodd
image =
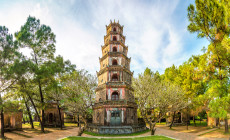
M 121 65 L 108 65 L 107 67 L 105 67 L 105 68 L 101 69 L 99 72 L 97 72 L 97 76 L 99 76 L 99 75 L 101 75 L 107 71 L 125 71 L 128 74 L 133 76 L 133 72 L 131 72 L 125 66 L 121 66 Z

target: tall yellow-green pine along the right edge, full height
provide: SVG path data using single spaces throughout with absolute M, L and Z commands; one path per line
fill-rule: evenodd
M 198 37 L 206 37 L 210 42 L 205 52 L 208 60 L 205 66 L 209 68 L 206 69 L 206 72 L 209 74 L 209 84 L 205 96 L 210 99 L 208 103 L 210 113 L 215 114 L 215 107 L 220 102 L 227 105 L 228 100 L 226 99 L 229 96 L 227 88 L 224 87 L 228 87 L 226 85 L 229 83 L 228 77 L 230 72 L 230 3 L 228 0 L 196 0 L 195 5 L 191 4 L 188 7 L 188 19 L 190 21 L 188 30 L 191 33 L 197 32 Z M 226 90 L 221 90 L 220 87 Z M 218 91 L 214 91 L 214 88 L 218 89 Z M 228 107 L 224 108 L 222 109 L 225 112 L 229 112 Z M 225 132 L 227 133 L 228 117 L 225 113 L 220 114 L 218 117 L 225 119 Z

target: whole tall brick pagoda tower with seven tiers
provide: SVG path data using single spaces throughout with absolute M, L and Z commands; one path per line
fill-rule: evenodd
M 138 124 L 137 104 L 131 87 L 131 58 L 127 57 L 128 46 L 125 45 L 123 26 L 119 21 L 111 21 L 106 26 L 101 49 L 96 102 L 93 106 L 93 124 L 98 126 L 95 130 L 98 133 L 132 133 L 131 126 Z

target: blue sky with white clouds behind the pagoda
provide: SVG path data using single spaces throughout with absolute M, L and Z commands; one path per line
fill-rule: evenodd
M 187 7 L 192 0 L 0 0 L 0 25 L 10 33 L 29 15 L 49 25 L 56 34 L 56 54 L 86 69 L 99 71 L 105 25 L 124 25 L 131 71 L 146 67 L 163 73 L 192 55 L 201 54 L 206 39 L 187 31 Z M 21 50 L 28 54 L 30 50 Z

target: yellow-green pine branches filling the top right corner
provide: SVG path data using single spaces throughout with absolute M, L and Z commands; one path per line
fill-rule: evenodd
M 197 32 L 198 37 L 207 37 L 212 42 L 225 35 L 229 36 L 230 2 L 228 0 L 196 0 L 195 4 L 196 6 L 191 4 L 188 7 L 190 32 Z

